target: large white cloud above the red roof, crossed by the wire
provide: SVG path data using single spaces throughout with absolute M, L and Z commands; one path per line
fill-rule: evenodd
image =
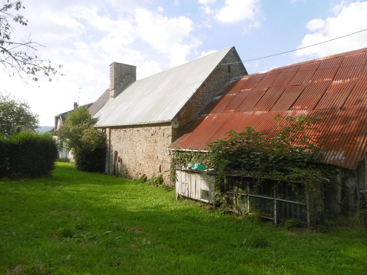
M 306 27 L 309 30 L 317 30 L 306 34 L 299 48 L 330 40 L 352 32 L 363 30 L 367 26 L 367 2 L 350 3 L 344 6 L 336 17 L 326 18 L 324 24 L 321 21 L 311 20 Z M 317 19 L 320 20 L 320 19 Z M 315 22 L 319 22 L 315 24 Z M 316 45 L 295 52 L 295 55 L 308 57 L 321 57 L 340 52 L 352 51 L 366 47 L 367 32 L 353 34 L 324 44 Z

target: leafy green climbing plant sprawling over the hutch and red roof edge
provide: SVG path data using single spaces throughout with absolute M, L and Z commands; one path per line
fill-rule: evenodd
M 321 118 L 276 115 L 274 120 L 277 123 L 269 135 L 250 126 L 241 132 L 231 130 L 224 139 L 208 144 L 207 154 L 180 152 L 177 148 L 173 159 L 187 163 L 194 162 L 195 157 L 207 168 L 214 168 L 215 199 L 219 204 L 226 201 L 224 177 L 233 174 L 255 177 L 258 185 L 264 179 L 286 181 L 290 185 L 298 181 L 309 191 L 320 192 L 330 170 L 327 165 L 313 164 L 322 154 L 317 129 Z

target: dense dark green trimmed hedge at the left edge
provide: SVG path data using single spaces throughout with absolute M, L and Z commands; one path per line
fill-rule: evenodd
M 46 176 L 57 158 L 57 144 L 46 133 L 21 132 L 0 139 L 0 177 Z

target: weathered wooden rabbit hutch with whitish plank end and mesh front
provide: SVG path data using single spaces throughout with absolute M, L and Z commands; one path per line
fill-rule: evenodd
M 215 204 L 215 175 L 193 169 L 176 169 L 176 195 Z M 310 198 L 301 182 L 257 179 L 251 176 L 227 175 L 224 182 L 228 205 L 236 213 L 259 213 L 274 223 L 298 219 L 309 225 L 312 213 L 324 208 L 322 194 Z

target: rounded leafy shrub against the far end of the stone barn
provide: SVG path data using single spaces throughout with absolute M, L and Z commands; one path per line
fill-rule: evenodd
M 78 108 L 65 116 L 58 137 L 71 150 L 76 168 L 80 171 L 103 172 L 105 165 L 106 136 L 94 128 L 97 119 L 86 108 Z

